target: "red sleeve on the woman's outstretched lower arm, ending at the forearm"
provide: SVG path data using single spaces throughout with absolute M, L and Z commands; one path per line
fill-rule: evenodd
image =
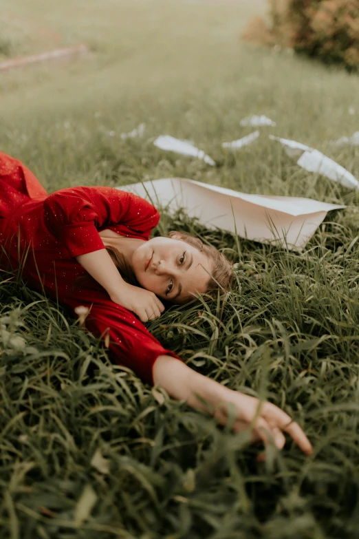
M 85 326 L 96 337 L 102 337 L 114 362 L 130 368 L 146 382 L 153 383 L 153 364 L 158 356 L 166 354 L 180 359 L 166 350 L 133 313 L 105 297 L 96 297 Z

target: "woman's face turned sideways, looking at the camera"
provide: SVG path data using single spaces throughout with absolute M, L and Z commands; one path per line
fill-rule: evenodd
M 205 293 L 212 273 L 206 255 L 173 237 L 153 237 L 144 242 L 133 253 L 132 265 L 143 288 L 175 303 Z

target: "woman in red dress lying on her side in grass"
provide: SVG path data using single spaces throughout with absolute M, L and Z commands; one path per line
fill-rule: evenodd
M 161 315 L 161 299 L 184 303 L 197 293 L 217 295 L 218 284 L 230 286 L 230 263 L 213 247 L 182 233 L 149 240 L 158 220 L 149 202 L 118 189 L 47 195 L 29 169 L 0 153 L 1 266 L 21 268 L 31 286 L 75 312 L 87 310 L 86 327 L 105 339 L 114 361 L 145 381 L 212 412 L 221 424 L 230 403 L 236 432 L 254 423 L 253 440 L 272 438 L 279 449 L 287 432 L 310 454 L 303 430 L 285 412 L 195 372 L 142 324 Z

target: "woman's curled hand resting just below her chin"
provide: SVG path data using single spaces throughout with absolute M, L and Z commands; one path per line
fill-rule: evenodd
M 110 297 L 114 303 L 135 313 L 142 322 L 160 317 L 164 311 L 164 305 L 153 292 L 126 282 L 122 282 Z

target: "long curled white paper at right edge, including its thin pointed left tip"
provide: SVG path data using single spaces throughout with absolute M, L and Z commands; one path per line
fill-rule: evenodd
M 338 182 L 345 187 L 349 187 L 349 189 L 359 189 L 359 182 L 353 174 L 341 165 L 338 165 L 333 159 L 322 154 L 321 151 L 306 146 L 301 142 L 296 142 L 296 140 L 275 137 L 273 135 L 270 135 L 270 138 L 272 140 L 279 140 L 290 157 L 297 158 L 300 156 L 296 164 L 302 167 L 302 169 L 308 172 L 322 174 L 329 178 L 329 180 Z

